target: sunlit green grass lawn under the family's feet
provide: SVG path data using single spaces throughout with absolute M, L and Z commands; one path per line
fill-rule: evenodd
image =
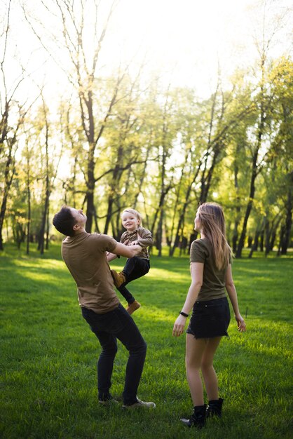
M 131 284 L 142 304 L 134 319 L 148 344 L 138 396 L 154 400 L 157 408 L 124 412 L 121 405 L 97 405 L 100 346 L 81 317 L 60 245 L 43 257 L 8 246 L 0 255 L 1 438 L 289 438 L 292 262 L 259 253 L 234 262 L 247 332 L 239 334 L 231 320 L 230 339 L 223 339 L 216 354 L 222 419 L 191 431 L 179 421 L 192 410 L 184 337 L 172 337 L 190 283 L 188 257 L 153 256 L 149 274 Z M 119 269 L 118 264 L 112 266 Z M 116 398 L 127 358 L 119 344 L 112 379 Z

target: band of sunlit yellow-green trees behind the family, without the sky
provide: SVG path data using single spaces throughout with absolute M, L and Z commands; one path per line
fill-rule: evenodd
M 15 136 L 22 152 L 13 167 L 17 181 L 0 179 L 9 191 L 0 218 L 4 241 L 18 241 L 16 230 L 25 230 L 29 189 L 34 236 L 48 197 L 50 217 L 62 203 L 83 208 L 88 224 L 94 219 L 91 231 L 116 238 L 121 210 L 131 205 L 142 212 L 157 248 L 168 243 L 171 250 L 193 234 L 198 203 L 218 201 L 234 248 L 241 230 L 245 245 L 247 236 L 264 231 L 279 245 L 280 230 L 289 236 L 292 229 L 293 64 L 267 53 L 261 60 L 245 71 L 236 68 L 226 83 L 219 74 L 205 99 L 158 78 L 145 84 L 142 72 L 102 76 L 85 69 L 56 115 L 36 102 Z M 76 67 L 85 68 L 83 62 Z M 11 173 L 6 155 L 0 156 L 1 177 Z

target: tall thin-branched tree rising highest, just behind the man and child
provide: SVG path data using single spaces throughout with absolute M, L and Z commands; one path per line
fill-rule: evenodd
M 86 215 L 88 217 L 86 230 L 89 232 L 93 227 L 93 218 L 96 211 L 94 194 L 97 181 L 95 177 L 97 147 L 113 107 L 119 99 L 118 91 L 125 74 L 125 72 L 121 72 L 116 76 L 115 81 L 111 81 L 111 94 L 104 97 L 101 104 L 101 99 L 97 99 L 95 95 L 97 83 L 103 81 L 102 77 L 97 74 L 98 61 L 102 43 L 107 34 L 107 27 L 116 4 L 116 0 L 111 2 L 104 25 L 101 27 L 99 20 L 100 15 L 102 16 L 100 1 L 90 0 L 85 3 L 82 0 L 55 0 L 54 11 L 51 10 L 52 6 L 43 3 L 43 13 L 46 15 L 50 11 L 50 13 L 56 14 L 60 29 L 62 29 L 62 32 L 57 35 L 55 33 L 49 35 L 49 39 L 46 41 L 41 39 L 37 20 L 29 16 L 25 7 L 23 7 L 27 22 L 29 22 L 34 34 L 50 56 L 56 59 L 56 49 L 63 49 L 60 50 L 58 62 L 78 95 L 80 124 L 84 136 L 83 142 L 86 142 L 83 153 L 86 154 L 86 169 L 84 170 Z M 88 50 L 89 39 L 94 42 L 91 53 Z M 53 48 L 50 47 L 50 41 L 55 43 Z M 63 59 L 64 50 L 67 52 L 65 60 Z M 64 64 L 64 61 L 67 60 L 70 62 L 71 69 L 68 69 L 67 65 Z M 72 135 L 73 137 L 74 135 Z

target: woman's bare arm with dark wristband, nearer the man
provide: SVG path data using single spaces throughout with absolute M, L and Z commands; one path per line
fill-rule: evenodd
M 191 262 L 191 285 L 182 308 L 182 311 L 186 314 L 189 314 L 191 311 L 194 302 L 196 302 L 196 299 L 198 298 L 201 285 L 203 285 L 203 265 L 204 264 L 201 262 Z M 186 317 L 182 316 L 182 314 L 179 314 L 174 323 L 173 336 L 179 337 L 179 335 L 182 335 L 185 323 Z

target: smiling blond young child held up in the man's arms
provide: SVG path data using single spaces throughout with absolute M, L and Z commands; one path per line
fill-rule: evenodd
M 142 217 L 135 209 L 125 209 L 121 215 L 122 225 L 126 231 L 122 234 L 120 242 L 125 245 L 138 244 L 142 247 L 142 251 L 135 257 L 130 257 L 120 273 L 111 270 L 114 285 L 121 295 L 127 300 L 128 307 L 126 311 L 132 314 L 139 309 L 140 304 L 132 296 L 131 292 L 125 288 L 125 285 L 141 278 L 149 272 L 149 252 L 147 247 L 153 244 L 151 232 L 142 227 Z M 109 253 L 107 255 L 108 262 L 116 258 L 116 255 Z

